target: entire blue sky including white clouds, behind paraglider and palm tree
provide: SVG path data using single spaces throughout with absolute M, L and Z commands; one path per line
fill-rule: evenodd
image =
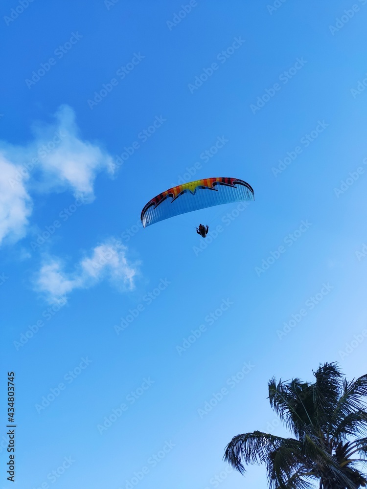
M 268 379 L 365 373 L 367 2 L 246 3 L 2 2 L 15 487 L 265 487 L 222 456 Z M 188 172 L 255 202 L 142 229 Z

